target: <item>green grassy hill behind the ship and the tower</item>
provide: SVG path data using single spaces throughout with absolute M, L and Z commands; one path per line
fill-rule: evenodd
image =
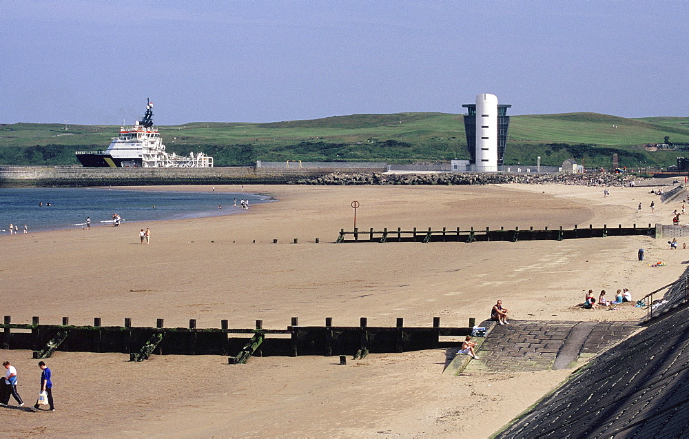
M 595 113 L 511 116 L 505 163 L 560 165 L 568 158 L 609 167 L 672 165 L 682 151 L 648 152 L 646 143 L 689 143 L 689 118 L 626 119 Z M 167 150 L 203 151 L 216 165 L 263 161 L 444 162 L 468 159 L 460 114 L 352 114 L 276 123 L 187 123 L 161 126 Z M 77 164 L 74 151 L 105 150 L 119 127 L 15 123 L 0 125 L 0 165 Z M 689 155 L 689 152 L 686 153 Z

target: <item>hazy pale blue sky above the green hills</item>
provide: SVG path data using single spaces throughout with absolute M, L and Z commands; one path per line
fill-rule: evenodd
M 0 0 L 0 123 L 688 116 L 689 0 Z

